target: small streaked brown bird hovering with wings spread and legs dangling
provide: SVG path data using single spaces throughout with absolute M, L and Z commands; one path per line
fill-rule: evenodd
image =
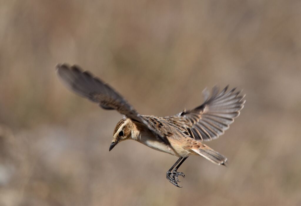
M 202 156 L 216 165 L 227 165 L 227 158 L 204 144 L 223 135 L 229 125 L 244 108 L 245 95 L 228 86 L 219 92 L 214 86 L 210 95 L 203 91 L 205 101 L 200 106 L 180 113 L 157 117 L 141 115 L 109 84 L 78 65 L 56 65 L 56 73 L 63 83 L 78 95 L 88 98 L 106 110 L 116 110 L 123 118 L 116 124 L 109 151 L 119 142 L 135 140 L 147 147 L 177 156 L 178 160 L 166 172 L 166 178 L 177 187 L 179 176 L 185 178 L 178 168 L 190 155 Z

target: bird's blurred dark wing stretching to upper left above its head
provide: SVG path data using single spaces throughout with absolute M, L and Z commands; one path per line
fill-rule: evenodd
M 78 66 L 58 64 L 57 74 L 63 82 L 82 97 L 96 102 L 104 109 L 114 109 L 126 117 L 144 124 L 154 135 L 170 145 L 164 132 L 145 116 L 140 115 L 118 92 L 88 71 L 82 71 Z

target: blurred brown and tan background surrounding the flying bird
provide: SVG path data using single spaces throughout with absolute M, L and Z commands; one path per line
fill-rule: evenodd
M 300 1 L 0 2 L 0 205 L 301 205 Z M 141 113 L 244 89 L 245 108 L 208 145 L 229 166 L 134 141 L 109 146 L 116 111 L 73 92 L 55 65 L 78 64 Z

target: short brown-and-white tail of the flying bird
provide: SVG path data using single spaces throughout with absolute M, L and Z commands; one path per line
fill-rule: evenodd
M 227 166 L 227 157 L 221 155 L 203 143 L 200 143 L 197 147 L 194 147 L 191 150 L 216 165 Z

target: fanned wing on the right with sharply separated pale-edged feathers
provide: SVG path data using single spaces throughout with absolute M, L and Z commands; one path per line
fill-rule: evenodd
M 215 86 L 210 98 L 209 91 L 205 89 L 203 91 L 205 102 L 202 105 L 166 119 L 198 141 L 219 138 L 244 108 L 244 95 L 240 95 L 241 91 L 234 92 L 235 89 L 227 92 L 228 86 L 226 86 L 219 93 L 218 87 Z

